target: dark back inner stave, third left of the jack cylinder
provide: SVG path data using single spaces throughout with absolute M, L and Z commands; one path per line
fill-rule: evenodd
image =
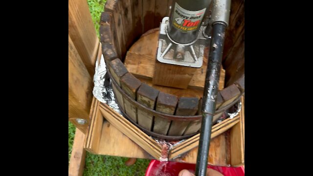
M 138 40 L 143 34 L 143 17 L 142 17 L 142 0 L 132 1 L 133 29 L 134 41 Z

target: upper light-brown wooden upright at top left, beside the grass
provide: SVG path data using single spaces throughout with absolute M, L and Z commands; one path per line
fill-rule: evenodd
M 68 0 L 68 35 L 93 77 L 99 39 L 86 0 Z

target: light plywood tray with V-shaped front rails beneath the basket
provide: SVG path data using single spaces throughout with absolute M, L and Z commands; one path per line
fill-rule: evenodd
M 219 166 L 244 165 L 245 110 L 233 119 L 212 127 L 208 163 Z M 160 159 L 162 146 L 108 105 L 93 98 L 91 125 L 84 148 L 92 154 Z M 229 127 L 231 127 L 229 129 Z M 226 130 L 225 129 L 229 129 Z M 196 163 L 199 134 L 176 145 L 167 155 L 171 161 Z

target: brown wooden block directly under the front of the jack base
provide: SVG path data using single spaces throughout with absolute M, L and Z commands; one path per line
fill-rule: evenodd
M 155 60 L 152 82 L 160 86 L 187 88 L 197 69 L 201 68 L 165 64 Z

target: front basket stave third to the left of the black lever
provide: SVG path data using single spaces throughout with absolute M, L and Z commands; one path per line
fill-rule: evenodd
M 142 105 L 154 109 L 156 104 L 156 97 L 159 91 L 146 84 L 142 84 L 137 91 L 137 102 Z M 152 130 L 153 115 L 143 111 L 137 110 L 138 124 L 146 130 Z

